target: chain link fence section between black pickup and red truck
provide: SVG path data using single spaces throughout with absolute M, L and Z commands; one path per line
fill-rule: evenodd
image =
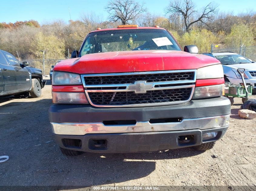
M 62 59 L 45 59 L 45 60 L 22 60 L 21 62 L 27 61 L 29 66 L 39 68 L 42 70 L 43 75 L 49 75 L 49 72 L 52 68 L 52 65 L 55 65 L 56 62 Z

